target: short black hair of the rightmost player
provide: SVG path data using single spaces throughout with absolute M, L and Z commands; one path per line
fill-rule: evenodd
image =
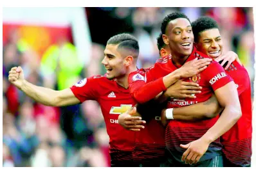
M 208 29 L 219 29 L 216 20 L 212 19 L 211 17 L 199 17 L 199 19 L 192 22 L 191 25 L 195 42 L 198 42 L 199 33 Z

